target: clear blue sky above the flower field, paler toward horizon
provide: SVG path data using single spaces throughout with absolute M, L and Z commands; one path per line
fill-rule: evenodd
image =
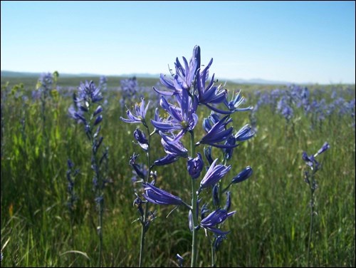
M 355 83 L 355 2 L 1 1 L 1 70 Z

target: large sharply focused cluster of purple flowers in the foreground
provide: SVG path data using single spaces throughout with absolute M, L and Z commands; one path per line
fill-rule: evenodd
M 149 131 L 149 124 L 145 118 L 150 102 L 146 105 L 144 98 L 142 98 L 140 103 L 135 104 L 134 110 L 127 110 L 127 118 L 121 118 L 121 120 L 125 123 L 142 124 L 147 129 L 147 135 L 158 134 L 161 138 L 161 143 L 166 155 L 155 160 L 152 165 L 150 163 L 150 169 L 155 165 L 168 165 L 179 160 L 179 158 L 186 158 L 187 170 L 192 178 L 192 183 L 195 183 L 194 181 L 197 180 L 204 171 L 204 160 L 200 153 L 194 153 L 195 149 L 201 144 L 206 145 L 204 155 L 209 162 L 209 166 L 200 181 L 199 188 L 192 192 L 194 200 L 192 201 L 192 205 L 187 205 L 180 197 L 159 189 L 159 187 L 155 185 L 155 180 L 148 182 L 150 175 L 147 175 L 147 178 L 142 177 L 145 192 L 142 196 L 145 197 L 145 200 L 148 202 L 157 205 L 185 205 L 189 208 L 189 225 L 191 226 L 192 232 L 202 227 L 213 232 L 214 235 L 216 235 L 216 244 L 220 244 L 221 241 L 226 238 L 225 235 L 228 232 L 221 231 L 219 227 L 228 217 L 234 215 L 235 212 L 229 212 L 230 205 L 226 205 L 224 209 L 216 207 L 216 210 L 213 210 L 206 216 L 206 213 L 203 212 L 207 212 L 208 210 L 207 205 L 204 205 L 201 207 L 201 220 L 200 223 L 198 223 L 197 217 L 194 215 L 198 215 L 199 202 L 201 202 L 201 200 L 198 200 L 197 197 L 203 190 L 212 189 L 222 183 L 221 179 L 231 170 L 231 165 L 226 166 L 226 162 L 231 159 L 233 149 L 236 148 L 239 143 L 252 138 L 254 132 L 250 125 L 244 125 L 243 128 L 235 133 L 234 128 L 229 126 L 232 122 L 231 114 L 244 110 L 252 110 L 252 107 L 241 108 L 241 105 L 244 104 L 244 97 L 241 96 L 240 91 L 234 93 L 232 97 L 229 98 L 228 91 L 223 86 L 216 85 L 214 74 L 209 81 L 209 71 L 212 62 L 213 59 L 211 58 L 209 64 L 202 67 L 200 48 L 199 46 L 195 46 L 192 58 L 190 58 L 189 61 L 184 57 L 182 63 L 178 58 L 176 59 L 174 63 L 175 73 L 171 73 L 172 76 L 164 76 L 161 74 L 160 81 L 166 89 L 162 90 L 157 87 L 153 87 L 153 89 L 161 95 L 159 105 L 167 116 L 162 118 L 161 115 L 159 115 L 159 110 L 156 109 L 155 118 L 150 120 L 150 123 L 155 128 L 152 133 Z M 198 108 L 202 106 L 209 108 L 211 114 L 208 118 L 202 120 L 206 134 L 195 142 L 194 129 L 199 123 Z M 187 135 L 187 133 L 190 134 L 192 140 L 190 154 L 189 150 L 184 147 L 182 141 L 182 138 Z M 148 155 L 150 142 L 147 136 L 141 130 L 137 129 L 135 130 L 134 137 Z M 220 164 L 218 164 L 219 160 L 217 158 L 212 158 L 211 147 L 220 148 L 222 150 L 224 158 Z M 137 168 L 138 165 L 132 165 L 132 167 L 137 169 L 135 169 L 137 175 L 142 174 L 142 171 Z M 146 172 L 146 174 L 150 174 L 150 170 Z M 252 169 L 246 167 L 239 175 L 231 180 L 224 191 L 226 192 L 230 185 L 246 180 L 251 174 Z M 227 192 L 226 195 L 228 196 L 228 200 L 230 200 L 230 192 Z M 139 210 L 142 211 L 140 207 Z M 142 218 L 145 218 L 145 216 L 142 215 Z M 142 222 L 142 224 L 146 223 L 147 222 Z

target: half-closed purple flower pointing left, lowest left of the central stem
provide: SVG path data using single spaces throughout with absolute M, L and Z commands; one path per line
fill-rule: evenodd
M 143 197 L 148 202 L 152 202 L 157 205 L 182 205 L 183 201 L 179 197 L 170 194 L 164 190 L 161 190 L 155 185 L 152 185 L 148 182 L 143 182 L 143 186 L 145 187 L 145 194 L 142 194 Z

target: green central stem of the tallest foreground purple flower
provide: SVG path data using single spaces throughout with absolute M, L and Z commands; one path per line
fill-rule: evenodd
M 194 144 L 194 132 L 189 131 L 191 140 L 190 140 L 190 150 L 191 150 L 191 157 L 194 158 L 195 155 L 195 144 Z M 190 178 L 191 179 L 191 178 Z M 192 179 L 191 179 L 192 180 Z M 197 267 L 197 231 L 195 227 L 197 226 L 198 223 L 198 217 L 197 217 L 197 180 L 192 180 L 192 219 L 193 219 L 193 236 L 192 236 L 192 262 L 190 264 L 190 267 Z

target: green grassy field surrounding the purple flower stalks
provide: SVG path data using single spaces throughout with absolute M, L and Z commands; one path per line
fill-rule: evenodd
M 98 213 L 93 193 L 91 148 L 83 125 L 68 116 L 71 95 L 85 78 L 59 78 L 57 87 L 46 100 L 33 98 L 36 78 L 1 78 L 1 267 L 95 267 L 98 264 Z M 31 80 L 32 79 L 32 80 Z M 95 80 L 98 85 L 98 78 Z M 158 79 L 157 79 L 158 81 Z M 141 91 L 126 100 L 127 107 L 152 99 L 155 80 L 140 80 Z M 23 87 L 15 86 L 23 83 Z M 68 90 L 68 87 L 72 89 Z M 261 102 L 273 95 L 273 86 L 227 84 L 230 91 L 242 89 L 248 105 L 257 105 L 251 113 L 234 113 L 234 129 L 246 123 L 256 127 L 256 136 L 234 149 L 229 178 L 246 165 L 253 175 L 233 185 L 232 210 L 224 230 L 231 230 L 217 252 L 219 267 L 306 267 L 310 227 L 310 190 L 304 182 L 307 170 L 302 160 L 305 150 L 314 154 L 325 141 L 330 149 L 318 156 L 322 168 L 316 174 L 315 221 L 310 250 L 313 267 L 355 267 L 355 102 L 352 110 L 341 113 L 337 107 L 315 119 L 293 104 L 293 117 L 286 120 L 276 112 L 281 98 Z M 286 86 L 279 86 L 289 92 Z M 258 93 L 257 93 L 258 92 Z M 334 94 L 334 96 L 333 96 Z M 274 95 L 273 95 L 274 96 Z M 136 267 L 140 253 L 140 224 L 132 185 L 130 156 L 144 153 L 132 143 L 137 125 L 123 123 L 120 80 L 108 78 L 103 92 L 103 143 L 109 148 L 108 177 L 103 214 L 103 266 Z M 268 97 L 269 98 L 269 97 Z M 326 104 L 342 98 L 355 100 L 355 85 L 315 86 L 310 99 L 325 99 Z M 272 98 L 270 98 L 271 100 Z M 340 100 L 341 101 L 341 100 Z M 344 105 L 344 106 L 342 106 Z M 152 99 L 147 118 L 158 107 Z M 43 122 L 43 115 L 46 120 Z M 209 115 L 201 108 L 197 137 L 204 135 L 201 120 Z M 153 129 L 153 128 L 152 128 Z M 189 140 L 184 138 L 188 147 Z M 152 159 L 164 155 L 160 139 L 152 136 Z M 197 151 L 202 152 L 199 146 Z M 214 148 L 213 155 L 220 157 Z M 71 217 L 68 199 L 67 160 L 80 172 L 75 177 L 78 200 Z M 143 161 L 143 160 L 142 160 Z M 205 161 L 205 159 L 204 159 Z M 190 178 L 186 160 L 157 167 L 157 182 L 163 189 L 190 199 Z M 137 185 L 135 186 L 137 187 Z M 173 206 L 154 206 L 157 218 L 146 238 L 147 267 L 177 267 L 175 255 L 181 254 L 184 266 L 190 264 L 191 232 L 188 212 L 183 207 L 166 216 Z M 73 231 L 73 232 L 72 232 Z M 210 246 L 204 231 L 199 231 L 198 265 L 210 265 Z

